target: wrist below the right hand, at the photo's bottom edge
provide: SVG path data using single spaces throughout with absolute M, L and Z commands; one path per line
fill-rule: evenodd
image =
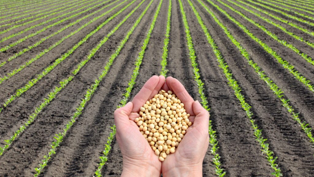
M 202 164 L 196 166 L 180 166 L 163 170 L 164 177 L 201 177 L 203 176 Z

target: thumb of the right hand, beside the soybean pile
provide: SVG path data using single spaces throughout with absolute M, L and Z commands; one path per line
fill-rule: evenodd
M 193 102 L 193 111 L 196 115 L 193 125 L 208 131 L 209 112 L 205 108 L 203 108 L 198 100 Z

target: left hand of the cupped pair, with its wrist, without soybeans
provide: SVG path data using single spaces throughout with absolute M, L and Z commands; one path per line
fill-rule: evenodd
M 158 176 L 161 174 L 161 162 L 134 122 L 139 109 L 151 99 L 165 83 L 164 76 L 153 76 L 135 95 L 132 102 L 117 109 L 114 113 L 116 140 L 123 156 L 121 176 Z

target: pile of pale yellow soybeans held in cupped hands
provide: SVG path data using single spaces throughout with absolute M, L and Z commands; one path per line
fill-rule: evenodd
M 139 115 L 141 117 L 135 118 L 135 123 L 160 161 L 176 151 L 187 128 L 192 125 L 184 104 L 170 90 L 160 90 L 146 101 Z

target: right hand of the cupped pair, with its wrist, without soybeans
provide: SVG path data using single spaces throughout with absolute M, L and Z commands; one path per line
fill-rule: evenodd
M 162 162 L 162 173 L 167 176 L 202 176 L 202 164 L 208 144 L 209 113 L 198 101 L 194 101 L 184 86 L 173 77 L 167 77 L 162 89 L 172 90 L 184 103 L 186 112 L 193 123 L 181 140 L 175 153 L 169 154 Z

